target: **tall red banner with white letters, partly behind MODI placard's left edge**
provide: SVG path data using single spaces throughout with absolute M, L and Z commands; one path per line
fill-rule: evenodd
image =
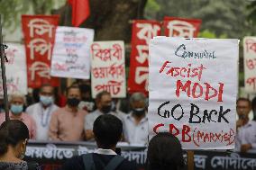
M 132 52 L 128 79 L 128 92 L 148 94 L 149 42 L 160 35 L 160 22 L 137 20 L 133 22 Z

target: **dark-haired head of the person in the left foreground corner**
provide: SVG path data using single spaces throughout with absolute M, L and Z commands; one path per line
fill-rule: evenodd
M 23 121 L 5 121 L 0 126 L 0 160 L 3 162 L 23 159 L 29 130 Z

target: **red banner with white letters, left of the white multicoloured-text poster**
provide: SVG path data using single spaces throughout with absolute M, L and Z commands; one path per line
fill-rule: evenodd
M 59 15 L 23 15 L 22 22 L 28 86 L 37 88 L 44 83 L 59 86 L 59 78 L 50 77 L 50 58 Z

